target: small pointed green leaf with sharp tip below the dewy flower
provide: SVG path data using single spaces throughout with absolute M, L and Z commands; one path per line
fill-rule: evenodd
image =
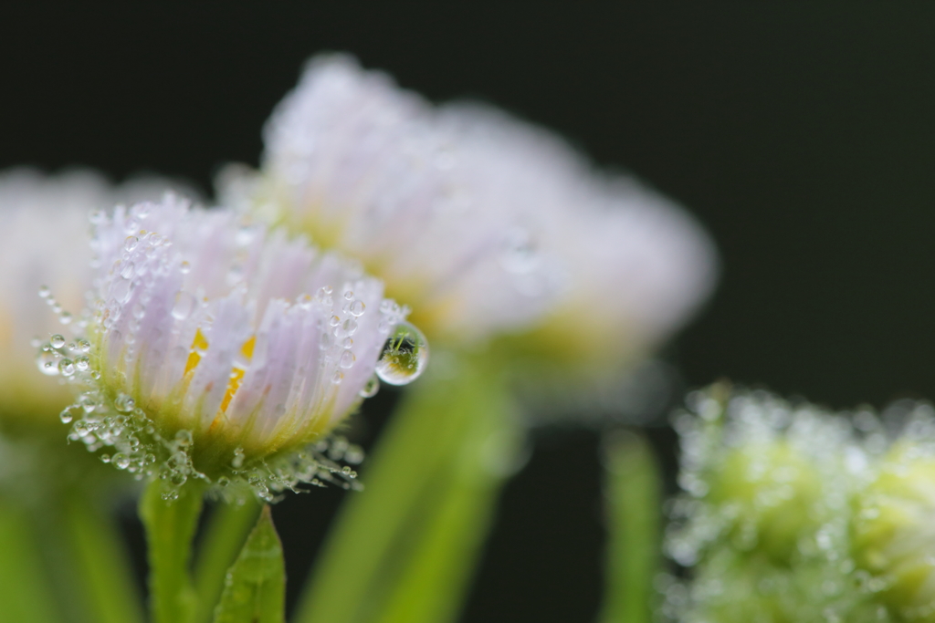
M 286 569 L 282 544 L 269 506 L 227 574 L 215 623 L 282 623 L 285 620 Z

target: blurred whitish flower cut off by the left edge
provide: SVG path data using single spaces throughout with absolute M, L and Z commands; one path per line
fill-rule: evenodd
M 71 313 L 84 306 L 91 286 L 89 213 L 158 198 L 169 188 L 180 185 L 138 178 L 114 186 L 88 170 L 54 176 L 25 168 L 0 172 L 0 416 L 7 423 L 57 423 L 73 399 L 61 378 L 54 378 L 58 361 L 40 361 L 46 375 L 36 375 L 36 341 L 53 333 L 70 336 L 79 324 Z

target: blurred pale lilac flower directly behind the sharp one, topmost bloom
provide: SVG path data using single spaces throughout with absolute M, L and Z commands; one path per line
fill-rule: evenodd
M 526 257 L 503 163 L 472 159 L 433 106 L 387 76 L 345 56 L 314 60 L 265 136 L 253 200 L 360 258 L 431 339 L 483 340 L 549 303 L 548 262 Z

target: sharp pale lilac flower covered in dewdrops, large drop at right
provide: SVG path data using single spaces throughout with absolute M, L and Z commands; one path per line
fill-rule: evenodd
M 68 371 L 87 368 L 91 389 L 72 438 L 113 446 L 122 469 L 177 484 L 252 474 L 268 497 L 317 477 L 313 460 L 274 462 L 372 395 L 375 371 L 405 382 L 424 363 L 379 280 L 237 213 L 171 197 L 118 207 L 94 250 L 90 360 Z M 402 347 L 381 358 L 391 334 Z

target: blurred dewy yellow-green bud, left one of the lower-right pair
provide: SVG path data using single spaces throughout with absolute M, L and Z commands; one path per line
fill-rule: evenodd
M 689 397 L 676 427 L 687 493 L 673 508 L 677 561 L 693 564 L 713 546 L 786 566 L 846 553 L 846 420 L 715 385 Z

